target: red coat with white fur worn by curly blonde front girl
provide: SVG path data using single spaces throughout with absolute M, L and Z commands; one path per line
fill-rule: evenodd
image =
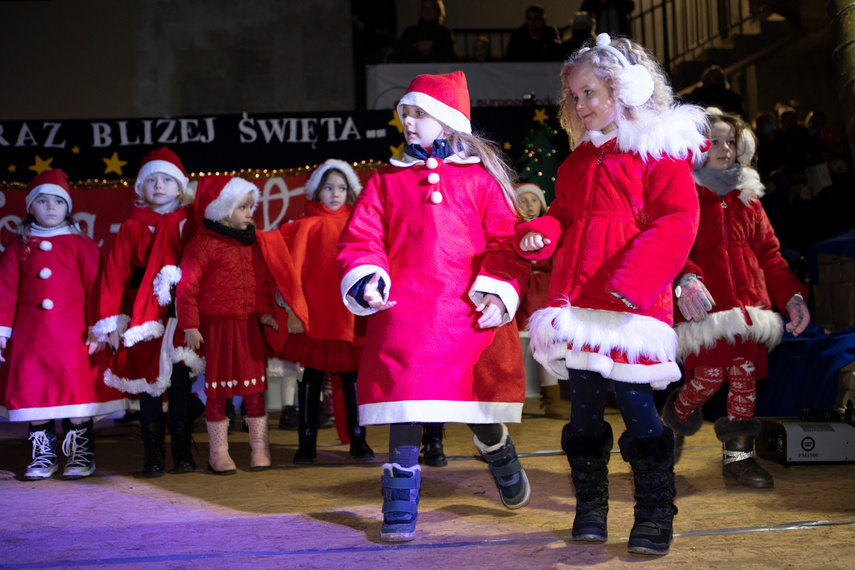
M 572 368 L 657 388 L 680 378 L 671 286 L 697 231 L 700 114 L 677 108 L 647 130 L 624 124 L 599 147 L 586 136 L 559 168 L 547 214 L 517 228 L 520 255 L 554 254 L 549 307 L 532 315 L 529 334 L 535 359 L 557 377 Z M 529 232 L 551 243 L 524 252 Z

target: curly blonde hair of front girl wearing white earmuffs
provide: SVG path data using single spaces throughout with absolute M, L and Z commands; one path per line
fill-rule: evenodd
M 577 68 L 589 66 L 593 74 L 605 84 L 618 107 L 615 116 L 615 126 L 618 128 L 624 121 L 640 121 L 661 115 L 673 104 L 674 92 L 671 89 L 671 84 L 659 61 L 652 53 L 627 38 L 612 38 L 611 47 L 623 54 L 631 65 L 643 65 L 647 69 L 653 78 L 653 95 L 646 103 L 638 107 L 624 105 L 615 96 L 615 91 L 620 87 L 619 75 L 624 69 L 617 57 L 608 50 L 598 47 L 574 51 L 561 68 L 560 119 L 561 126 L 570 137 L 570 148 L 576 148 L 576 145 L 587 132 L 585 124 L 576 112 L 576 99 L 567 85 L 570 74 Z

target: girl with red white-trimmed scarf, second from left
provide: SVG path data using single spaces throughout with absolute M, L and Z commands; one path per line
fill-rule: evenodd
M 152 260 L 154 236 L 169 216 L 183 213 L 182 205 L 192 201 L 188 182 L 181 161 L 168 148 L 156 149 L 143 159 L 134 185 L 138 200 L 119 228 L 101 277 L 101 320 L 95 333 L 115 350 L 104 380 L 108 386 L 139 395 L 146 477 L 165 473 L 164 395 L 169 402 L 174 472 L 196 469 L 191 450 L 192 383 L 190 369 L 175 352 L 183 337 L 176 331 L 174 305 L 155 303 L 145 322 L 132 319 L 135 305 L 154 299 L 151 275 L 161 268 Z M 188 364 L 198 372 L 199 363 Z

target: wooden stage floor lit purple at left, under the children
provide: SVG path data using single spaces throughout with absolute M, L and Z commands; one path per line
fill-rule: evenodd
M 711 423 L 687 440 L 677 464 L 676 536 L 665 557 L 631 555 L 632 477 L 617 448 L 610 463 L 609 541 L 570 540 L 574 498 L 560 452 L 563 422 L 526 403 L 510 425 L 532 500 L 504 509 L 471 433 L 446 426 L 447 467 L 422 471 L 418 535 L 380 542 L 380 466 L 388 428 L 368 428 L 377 452 L 355 463 L 335 430 L 323 430 L 314 466 L 295 466 L 296 432 L 276 429 L 274 468 L 248 469 L 248 434 L 231 437 L 238 473 L 206 473 L 207 435 L 194 434 L 200 469 L 143 479 L 138 427 L 96 425 L 90 478 L 21 478 L 26 425 L 0 423 L 0 568 L 851 568 L 855 465 L 793 466 L 760 460 L 774 489 L 726 485 Z M 609 410 L 615 439 L 623 430 Z M 168 448 L 167 448 L 168 452 Z M 167 466 L 171 461 L 167 460 Z

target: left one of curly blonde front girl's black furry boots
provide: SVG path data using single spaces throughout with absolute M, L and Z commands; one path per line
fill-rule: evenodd
M 609 458 L 614 436 L 612 426 L 603 423 L 596 435 L 573 434 L 570 424 L 561 430 L 561 449 L 570 464 L 576 488 L 576 517 L 573 540 L 605 542 L 609 532 Z

